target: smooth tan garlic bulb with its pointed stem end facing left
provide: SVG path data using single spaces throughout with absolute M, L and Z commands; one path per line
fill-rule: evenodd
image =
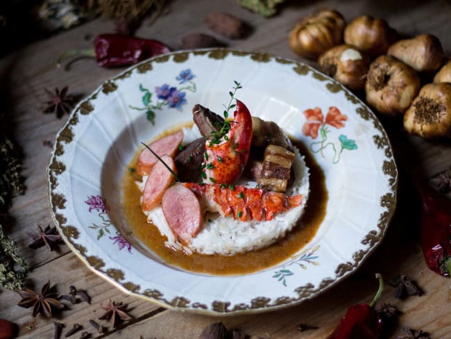
M 417 72 L 435 72 L 443 61 L 440 40 L 431 34 L 421 34 L 412 39 L 395 42 L 387 54 L 407 63 Z

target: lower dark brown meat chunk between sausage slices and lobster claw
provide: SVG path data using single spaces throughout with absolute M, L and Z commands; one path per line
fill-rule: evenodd
M 201 181 L 201 165 L 205 153 L 205 138 L 198 138 L 176 156 L 178 177 L 185 183 Z

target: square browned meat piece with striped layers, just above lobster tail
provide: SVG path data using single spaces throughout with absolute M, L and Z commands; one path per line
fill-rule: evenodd
M 262 172 L 257 183 L 262 188 L 275 192 L 285 192 L 290 179 L 294 153 L 274 144 L 268 145 L 264 151 Z

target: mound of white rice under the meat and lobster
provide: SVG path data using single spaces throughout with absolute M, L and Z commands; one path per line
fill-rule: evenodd
M 196 126 L 192 129 L 183 129 L 183 133 L 185 134 L 183 144 L 189 144 L 201 136 Z M 198 252 L 228 256 L 271 245 L 296 225 L 304 213 L 309 197 L 309 169 L 298 149 L 295 149 L 295 153 L 293 162 L 295 180 L 285 194 L 303 195 L 303 204 L 291 208 L 287 212 L 276 213 L 273 220 L 241 222 L 232 217 L 221 217 L 218 213 L 209 213 L 204 216 L 203 229 L 192 240 L 189 247 L 183 246 L 177 241 L 164 218 L 161 206 L 146 213 L 148 222 L 157 226 L 160 233 L 167 237 L 167 246 L 184 250 L 187 254 Z M 141 182 L 137 182 L 140 190 L 144 189 L 146 179 L 147 176 L 144 176 Z M 255 182 L 239 182 L 237 184 L 255 187 Z

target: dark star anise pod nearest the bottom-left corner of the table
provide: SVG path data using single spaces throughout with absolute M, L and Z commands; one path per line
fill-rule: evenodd
M 65 308 L 65 305 L 56 299 L 58 293 L 50 291 L 50 281 L 42 286 L 40 293 L 28 289 L 18 290 L 17 292 L 22 297 L 17 305 L 25 308 L 33 307 L 33 317 L 38 313 L 44 313 L 46 317 L 51 317 L 52 307 L 58 308 L 58 310 Z

